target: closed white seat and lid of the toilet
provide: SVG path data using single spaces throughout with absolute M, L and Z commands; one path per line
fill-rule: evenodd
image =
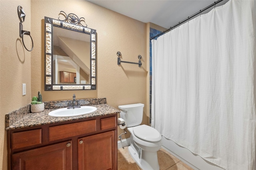
M 133 133 L 137 138 L 147 142 L 159 142 L 162 139 L 161 134 L 148 125 L 133 127 Z

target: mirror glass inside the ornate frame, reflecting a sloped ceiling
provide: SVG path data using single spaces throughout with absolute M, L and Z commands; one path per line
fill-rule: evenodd
M 56 26 L 53 29 L 54 84 L 90 84 L 90 34 Z M 69 72 L 70 81 L 60 81 L 60 71 Z

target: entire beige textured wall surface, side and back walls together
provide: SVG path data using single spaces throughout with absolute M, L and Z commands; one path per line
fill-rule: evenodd
M 19 38 L 18 5 L 26 13 L 23 27 L 31 31 L 32 52 L 22 47 Z M 72 99 L 75 93 L 77 99 L 106 97 L 115 108 L 144 103 L 143 123 L 148 123 L 145 23 L 81 0 L 0 0 L 0 10 L 0 169 L 7 169 L 4 115 L 30 103 L 38 91 L 43 101 Z M 97 30 L 97 90 L 44 91 L 44 16 L 58 18 L 61 10 L 84 17 L 88 28 Z M 30 47 L 30 40 L 25 43 Z M 117 65 L 117 51 L 124 61 L 138 62 L 142 55 L 142 67 Z M 26 83 L 26 96 L 22 96 L 22 83 Z

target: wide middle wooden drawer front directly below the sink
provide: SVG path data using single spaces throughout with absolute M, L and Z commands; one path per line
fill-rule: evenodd
M 96 120 L 49 127 L 49 141 L 96 131 Z

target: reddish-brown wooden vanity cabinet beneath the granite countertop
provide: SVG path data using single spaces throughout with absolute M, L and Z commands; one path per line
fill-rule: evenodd
M 10 170 L 117 170 L 116 114 L 8 130 Z

